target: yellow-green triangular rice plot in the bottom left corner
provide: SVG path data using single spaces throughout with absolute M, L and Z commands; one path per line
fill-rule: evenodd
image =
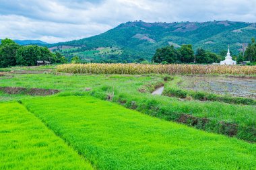
M 0 169 L 93 169 L 20 103 L 0 110 Z

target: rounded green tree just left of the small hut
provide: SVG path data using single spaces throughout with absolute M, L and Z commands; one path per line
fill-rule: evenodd
M 41 59 L 41 51 L 39 46 L 22 46 L 16 54 L 16 62 L 18 65 L 32 66 L 36 65 L 36 61 Z

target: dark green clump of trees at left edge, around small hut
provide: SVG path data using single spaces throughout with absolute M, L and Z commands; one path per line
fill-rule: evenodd
M 67 62 L 67 59 L 59 52 L 53 53 L 46 47 L 37 45 L 20 46 L 8 38 L 1 40 L 0 67 L 32 66 L 37 64 L 37 60 L 46 60 L 51 63 Z

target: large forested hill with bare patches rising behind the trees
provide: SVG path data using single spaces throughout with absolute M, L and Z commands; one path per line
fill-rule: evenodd
M 199 47 L 212 52 L 227 50 L 228 44 L 233 54 L 238 54 L 256 37 L 256 24 L 245 22 L 215 21 L 215 22 L 174 22 L 174 23 L 146 23 L 127 22 L 116 28 L 108 30 L 98 36 L 73 40 L 58 44 L 51 44 L 49 47 L 63 52 L 65 47 L 66 56 L 81 54 L 86 60 L 127 60 L 137 58 L 151 60 L 156 48 L 173 45 L 179 47 L 182 44 L 192 44 L 194 50 Z M 67 50 L 67 46 L 72 50 Z M 119 53 L 100 54 L 92 53 L 97 48 L 113 47 L 119 49 Z M 81 53 L 86 51 L 86 53 Z M 84 55 L 82 55 L 84 54 Z

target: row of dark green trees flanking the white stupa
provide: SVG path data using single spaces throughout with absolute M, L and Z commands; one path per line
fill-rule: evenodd
M 232 55 L 232 52 L 231 52 Z M 152 62 L 171 64 L 171 63 L 199 63 L 199 64 L 211 64 L 219 63 L 224 60 L 226 51 L 216 54 L 209 52 L 203 48 L 197 48 L 196 52 L 193 51 L 191 44 L 182 45 L 181 48 L 174 48 L 174 46 L 165 46 L 158 48 L 156 53 L 152 57 Z M 251 43 L 247 46 L 245 53 L 241 52 L 238 56 L 232 56 L 234 60 L 238 62 L 247 60 L 251 63 L 256 62 L 256 43 L 252 38 Z

